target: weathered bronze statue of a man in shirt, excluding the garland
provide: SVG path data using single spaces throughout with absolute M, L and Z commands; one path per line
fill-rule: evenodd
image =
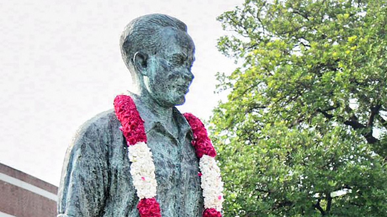
M 194 76 L 194 42 L 187 26 L 163 14 L 132 20 L 121 36 L 122 56 L 152 150 L 163 217 L 199 217 L 204 210 L 192 130 L 175 108 Z M 139 217 L 128 147 L 114 110 L 87 121 L 68 148 L 58 217 Z M 219 199 L 221 196 L 219 196 Z

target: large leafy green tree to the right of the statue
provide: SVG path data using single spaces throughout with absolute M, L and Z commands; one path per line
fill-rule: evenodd
M 210 120 L 224 216 L 387 216 L 386 0 L 245 0 Z

